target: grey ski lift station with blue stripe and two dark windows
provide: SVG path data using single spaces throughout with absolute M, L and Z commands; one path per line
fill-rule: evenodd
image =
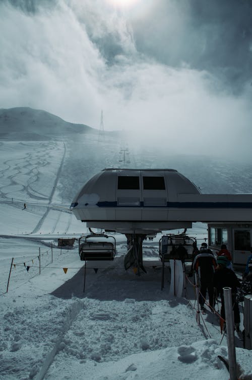
M 104 169 L 74 198 L 71 209 L 87 227 L 125 234 L 142 267 L 147 235 L 208 223 L 209 246 L 226 244 L 245 264 L 252 234 L 252 194 L 202 194 L 173 169 Z M 137 254 L 136 254 L 137 253 Z

